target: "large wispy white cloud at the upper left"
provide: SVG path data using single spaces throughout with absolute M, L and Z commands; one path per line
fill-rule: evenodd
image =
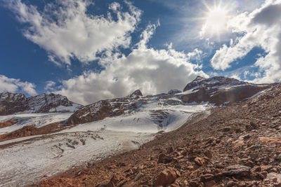
M 89 15 L 89 0 L 55 1 L 46 4 L 44 11 L 21 0 L 4 1 L 20 22 L 28 24 L 24 36 L 44 48 L 55 64 L 71 64 L 73 58 L 91 62 L 104 51 L 128 48 L 141 17 L 141 11 L 128 1 L 124 2 L 129 12 L 120 11 L 121 5 L 114 2 L 106 16 Z

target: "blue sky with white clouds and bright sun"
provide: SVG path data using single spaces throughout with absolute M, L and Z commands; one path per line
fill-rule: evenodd
M 0 0 L 0 92 L 79 104 L 281 81 L 281 0 Z

